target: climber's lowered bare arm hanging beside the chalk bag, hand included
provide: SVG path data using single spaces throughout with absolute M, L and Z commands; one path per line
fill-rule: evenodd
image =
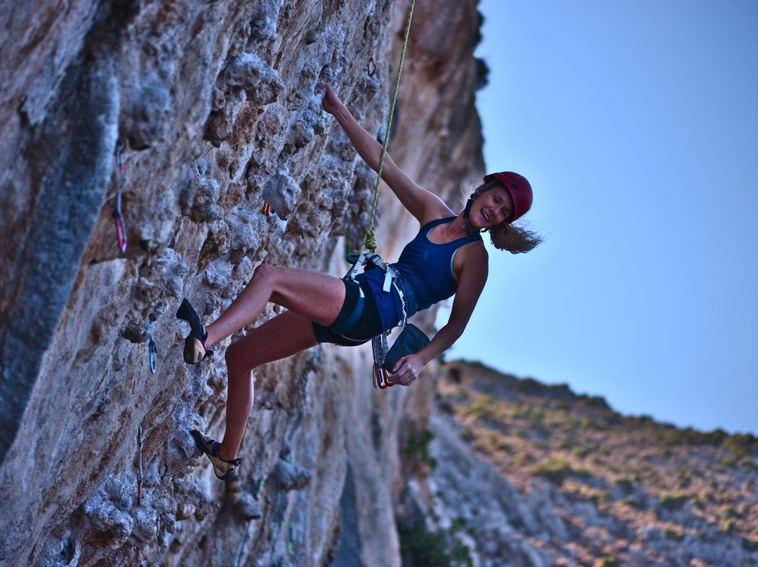
M 424 349 L 415 354 L 403 356 L 397 361 L 395 373 L 390 377 L 394 384 L 403 386 L 411 384 L 424 365 L 453 346 L 453 343 L 463 334 L 479 300 L 481 290 L 487 282 L 487 250 L 484 246 L 475 246 L 466 252 L 468 253 L 458 278 L 456 299 L 453 300 L 453 309 L 450 311 L 447 323 L 437 331 L 434 339 Z

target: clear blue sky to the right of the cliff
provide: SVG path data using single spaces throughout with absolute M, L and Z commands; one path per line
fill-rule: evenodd
M 480 10 L 485 161 L 546 241 L 490 253 L 448 358 L 758 434 L 758 2 Z

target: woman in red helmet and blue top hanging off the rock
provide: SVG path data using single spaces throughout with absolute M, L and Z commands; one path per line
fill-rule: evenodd
M 361 127 L 327 85 L 322 107 L 332 114 L 363 160 L 377 171 L 382 147 Z M 267 302 L 287 311 L 251 330 L 226 351 L 228 393 L 226 431 L 219 443 L 193 430 L 198 446 L 222 480 L 240 465 L 236 458 L 247 418 L 252 410 L 252 370 L 267 362 L 292 356 L 318 343 L 356 345 L 396 326 L 421 309 L 455 294 L 449 320 L 419 352 L 402 356 L 390 384 L 411 384 L 421 368 L 461 336 L 487 280 L 487 250 L 479 233 L 490 231 L 494 246 L 509 252 L 528 252 L 540 237 L 514 227 L 512 222 L 529 210 L 531 186 L 521 175 L 503 172 L 484 177 L 465 208 L 457 215 L 440 197 L 422 189 L 386 157 L 381 174 L 387 186 L 421 225 L 406 246 L 391 285 L 386 272 L 370 269 L 355 279 L 297 268 L 260 265 L 242 293 L 221 316 L 204 327 L 184 299 L 177 317 L 189 321 L 184 359 L 196 364 L 211 346 L 246 327 L 261 315 Z

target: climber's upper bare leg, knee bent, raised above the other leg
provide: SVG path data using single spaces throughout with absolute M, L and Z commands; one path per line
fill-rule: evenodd
M 339 277 L 315 271 L 260 265 L 229 309 L 206 327 L 206 348 L 255 321 L 269 301 L 308 321 L 330 325 L 345 301 L 345 284 Z

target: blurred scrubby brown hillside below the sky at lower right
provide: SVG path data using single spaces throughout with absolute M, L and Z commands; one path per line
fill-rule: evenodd
M 409 443 L 427 476 L 409 484 L 406 565 L 430 550 L 437 565 L 758 565 L 755 437 L 625 417 L 479 363 L 436 379 L 431 431 Z

